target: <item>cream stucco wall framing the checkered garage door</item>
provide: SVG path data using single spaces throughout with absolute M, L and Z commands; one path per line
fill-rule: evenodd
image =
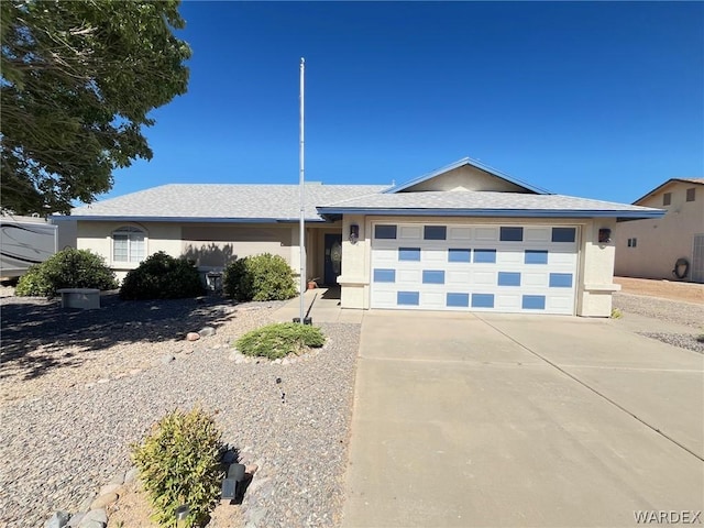
M 600 229 L 614 229 L 615 219 L 532 219 L 532 218 L 441 218 L 441 217 L 364 217 L 344 216 L 342 232 L 349 233 L 350 226 L 360 227 L 360 240 L 352 244 L 343 237 L 342 275 L 338 283 L 342 285 L 341 306 L 343 308 L 370 308 L 371 282 L 371 233 L 372 224 L 417 222 L 419 224 L 504 224 L 504 226 L 576 226 L 580 228 L 580 250 L 576 277 L 575 314 L 584 317 L 609 317 L 612 293 L 619 287 L 613 284 L 614 243 L 598 244 Z

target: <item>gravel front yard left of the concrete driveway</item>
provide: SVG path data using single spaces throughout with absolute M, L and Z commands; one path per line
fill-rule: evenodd
M 92 311 L 2 298 L 0 526 L 42 526 L 130 468 L 130 443 L 176 407 L 216 414 L 260 469 L 217 526 L 336 526 L 359 324 L 323 324 L 324 348 L 289 364 L 232 361 L 230 343 L 277 302 L 102 299 Z M 212 326 L 196 342 L 188 331 Z M 276 378 L 282 383 L 277 384 Z M 282 392 L 284 396 L 282 396 Z M 119 502 L 118 502 L 119 505 Z

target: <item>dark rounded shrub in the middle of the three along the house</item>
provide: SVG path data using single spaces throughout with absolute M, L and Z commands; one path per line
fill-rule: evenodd
M 202 295 L 200 274 L 193 262 L 163 251 L 131 270 L 120 288 L 122 299 L 182 299 Z

